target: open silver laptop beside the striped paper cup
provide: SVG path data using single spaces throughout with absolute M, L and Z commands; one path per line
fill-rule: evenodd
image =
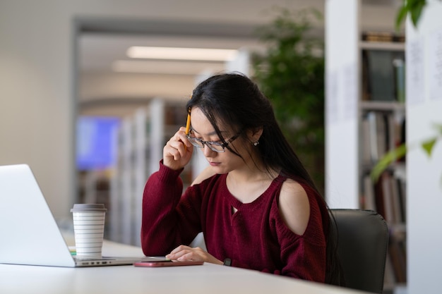
M 0 166 L 0 264 L 97 267 L 165 257 L 79 259 L 69 250 L 27 164 Z

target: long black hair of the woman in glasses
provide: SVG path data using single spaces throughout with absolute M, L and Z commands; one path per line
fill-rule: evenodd
M 244 130 L 263 128 L 259 144 L 256 147 L 260 151 L 259 154 L 265 169 L 267 171 L 280 170 L 289 178 L 302 180 L 316 190 L 318 195 L 321 195 L 297 154 L 282 134 L 270 100 L 251 79 L 240 73 L 213 75 L 193 90 L 186 108 L 191 109 L 193 106 L 203 111 L 222 142 L 225 142 L 225 138 L 218 128 L 220 123 L 232 125 L 234 131 L 241 134 L 243 139 L 247 138 Z M 229 145 L 227 148 L 240 156 Z M 327 207 L 325 200 L 322 197 L 319 198 Z M 342 274 L 336 249 L 338 231 L 336 228 L 332 228 L 334 224 L 335 221 L 331 216 L 328 228 L 325 228 L 328 231 L 325 283 L 340 285 L 342 284 Z

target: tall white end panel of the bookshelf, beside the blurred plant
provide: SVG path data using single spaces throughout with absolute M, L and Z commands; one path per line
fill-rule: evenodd
M 358 95 L 360 1 L 325 1 L 325 197 L 359 207 Z

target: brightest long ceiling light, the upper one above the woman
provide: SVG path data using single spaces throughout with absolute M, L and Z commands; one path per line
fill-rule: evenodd
M 234 49 L 203 49 L 177 47 L 130 47 L 127 56 L 133 59 L 174 59 L 193 61 L 230 61 L 234 59 Z

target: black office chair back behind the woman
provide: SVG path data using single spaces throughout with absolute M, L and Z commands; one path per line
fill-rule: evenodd
M 388 226 L 380 214 L 362 209 L 330 209 L 338 227 L 338 253 L 345 286 L 383 292 Z

